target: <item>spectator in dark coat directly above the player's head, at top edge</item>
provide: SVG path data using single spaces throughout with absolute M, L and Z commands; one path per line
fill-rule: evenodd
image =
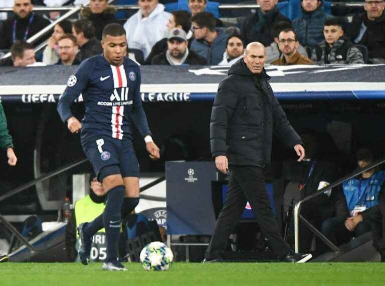
M 115 17 L 116 9 L 108 4 L 108 0 L 90 0 L 90 6 L 82 8 L 80 14 L 89 19 L 95 27 L 95 36 L 102 39 L 102 32 L 106 25 L 117 23 Z

